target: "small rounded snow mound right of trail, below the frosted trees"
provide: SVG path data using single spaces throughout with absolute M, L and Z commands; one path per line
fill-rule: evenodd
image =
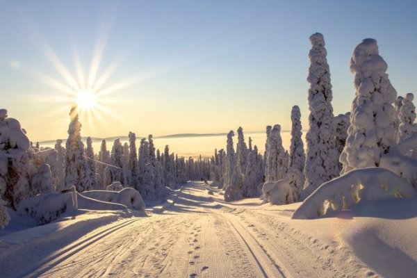
M 291 204 L 298 199 L 298 190 L 290 179 L 280 179 L 263 184 L 263 202 L 271 204 Z

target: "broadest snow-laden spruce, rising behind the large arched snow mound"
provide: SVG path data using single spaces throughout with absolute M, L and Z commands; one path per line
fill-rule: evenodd
M 341 174 L 379 166 L 381 156 L 395 144 L 393 102 L 397 92 L 385 73 L 387 67 L 379 56 L 376 40 L 365 39 L 354 49 L 350 70 L 354 73 L 356 94 L 340 157 Z

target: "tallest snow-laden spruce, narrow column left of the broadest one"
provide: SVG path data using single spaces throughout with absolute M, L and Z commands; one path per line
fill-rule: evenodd
M 327 64 L 327 51 L 323 35 L 310 37 L 309 131 L 306 134 L 306 195 L 322 183 L 338 176 L 338 152 L 334 142 L 332 84 Z

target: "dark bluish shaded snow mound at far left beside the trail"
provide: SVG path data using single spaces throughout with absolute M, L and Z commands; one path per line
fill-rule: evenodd
M 20 202 L 17 213 L 35 218 L 38 224 L 47 224 L 56 220 L 62 213 L 76 211 L 76 208 L 74 192 L 47 192 Z

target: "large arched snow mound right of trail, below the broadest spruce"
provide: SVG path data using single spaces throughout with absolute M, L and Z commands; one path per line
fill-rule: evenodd
M 352 170 L 323 183 L 297 208 L 293 219 L 317 218 L 329 210 L 395 197 L 417 197 L 417 191 L 408 181 L 384 168 Z

